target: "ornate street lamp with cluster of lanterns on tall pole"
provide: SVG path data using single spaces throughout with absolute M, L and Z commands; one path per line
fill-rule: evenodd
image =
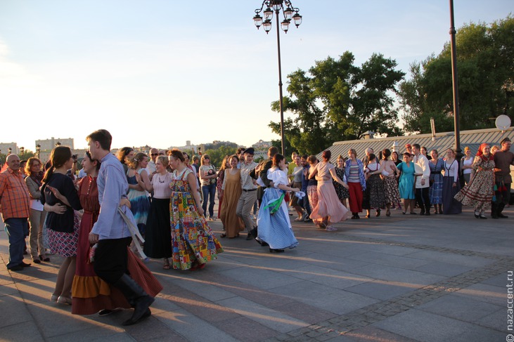
M 284 8 L 284 6 L 286 6 Z M 253 22 L 257 29 L 264 27 L 264 32 L 268 34 L 271 30 L 271 20 L 273 19 L 273 11 L 275 11 L 276 18 L 276 42 L 278 47 L 278 91 L 279 91 L 279 103 L 280 103 L 280 114 L 281 114 L 281 140 L 282 140 L 282 154 L 285 155 L 284 148 L 284 112 L 283 112 L 283 96 L 282 96 L 282 65 L 281 65 L 281 54 L 280 54 L 280 26 L 283 32 L 288 33 L 289 25 L 293 20 L 295 26 L 298 28 L 302 23 L 302 15 L 298 14 L 299 8 L 296 8 L 291 4 L 290 0 L 264 0 L 262 1 L 261 8 L 255 10 L 255 16 Z M 279 16 L 282 11 L 283 20 L 279 22 Z M 260 15 L 262 13 L 264 18 Z

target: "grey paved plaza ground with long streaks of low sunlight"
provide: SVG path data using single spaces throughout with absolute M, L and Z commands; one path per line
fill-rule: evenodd
M 147 263 L 164 290 L 131 327 L 121 326 L 131 310 L 77 316 L 49 301 L 58 256 L 8 271 L 0 224 L 0 341 L 514 341 L 514 209 L 505 213 L 392 211 L 337 232 L 293 223 L 300 245 L 283 254 L 245 235 L 219 239 L 225 252 L 204 270 Z M 211 226 L 219 236 L 219 220 Z

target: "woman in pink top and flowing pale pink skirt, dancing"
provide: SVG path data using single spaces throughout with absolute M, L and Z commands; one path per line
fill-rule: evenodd
M 346 189 L 348 189 L 348 185 L 335 173 L 335 166 L 330 164 L 331 156 L 330 150 L 323 151 L 323 160 L 311 170 L 309 175 L 309 178 L 316 175 L 316 180 L 318 180 L 318 204 L 312 209 L 310 217 L 313 220 L 321 218 L 320 228 L 328 231 L 338 230 L 330 224 L 346 220 L 348 213 L 348 209 L 341 204 L 335 193 L 332 180 Z

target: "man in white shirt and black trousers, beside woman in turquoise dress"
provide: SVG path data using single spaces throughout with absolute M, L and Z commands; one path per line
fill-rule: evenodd
M 421 154 L 419 144 L 412 145 L 412 153 L 414 154 L 413 162 L 416 168 L 416 202 L 421 208 L 420 215 L 430 215 L 430 167 L 428 159 Z

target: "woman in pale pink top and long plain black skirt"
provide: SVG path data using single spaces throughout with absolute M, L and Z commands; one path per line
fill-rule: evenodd
M 172 256 L 172 230 L 169 225 L 169 188 L 171 173 L 167 171 L 168 159 L 159 156 L 155 160 L 155 175 L 148 192 L 153 192 L 150 215 L 146 223 L 145 246 L 143 251 L 150 258 L 163 258 L 162 268 L 169 270 L 169 258 Z

